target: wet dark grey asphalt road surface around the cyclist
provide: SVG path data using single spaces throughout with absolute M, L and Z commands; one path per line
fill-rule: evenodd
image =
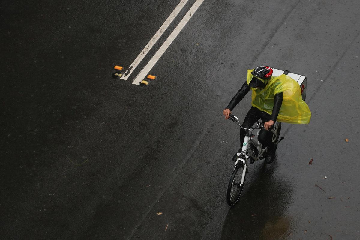
M 114 80 L 178 3 L 0 3 L 1 239 L 360 239 L 360 2 L 205 0 L 132 85 L 190 0 Z M 305 74 L 312 119 L 283 124 L 229 208 L 239 132 L 221 113 L 257 65 Z

